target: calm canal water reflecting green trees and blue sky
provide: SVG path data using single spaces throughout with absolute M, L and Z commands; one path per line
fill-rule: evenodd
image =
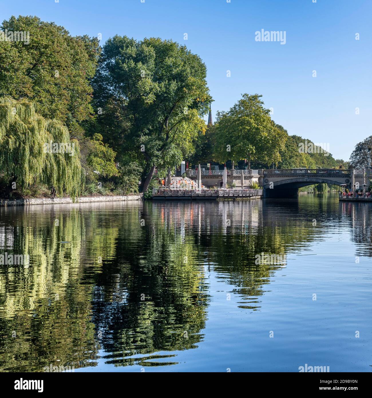
M 0 371 L 370 372 L 370 206 L 1 208 Z

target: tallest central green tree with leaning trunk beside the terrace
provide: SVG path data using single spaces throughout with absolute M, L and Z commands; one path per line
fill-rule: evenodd
M 206 66 L 185 46 L 115 36 L 103 47 L 93 86 L 99 133 L 119 159 L 130 153 L 141 164 L 143 192 L 156 168 L 194 152 L 211 98 Z

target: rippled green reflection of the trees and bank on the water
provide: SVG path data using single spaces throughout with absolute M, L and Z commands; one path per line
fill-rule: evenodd
M 280 265 L 255 254 L 306 249 L 329 219 L 371 255 L 368 204 L 334 198 L 2 208 L 0 253 L 30 266 L 0 267 L 0 370 L 177 363 L 204 339 L 208 272 L 259 311 Z

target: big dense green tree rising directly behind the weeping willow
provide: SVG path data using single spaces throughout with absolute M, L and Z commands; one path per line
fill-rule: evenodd
M 0 41 L 0 95 L 32 100 L 39 115 L 66 123 L 79 138 L 80 123 L 92 117 L 90 79 L 98 39 L 72 37 L 64 27 L 35 16 L 12 16 L 1 29 L 29 32 L 29 42 Z

